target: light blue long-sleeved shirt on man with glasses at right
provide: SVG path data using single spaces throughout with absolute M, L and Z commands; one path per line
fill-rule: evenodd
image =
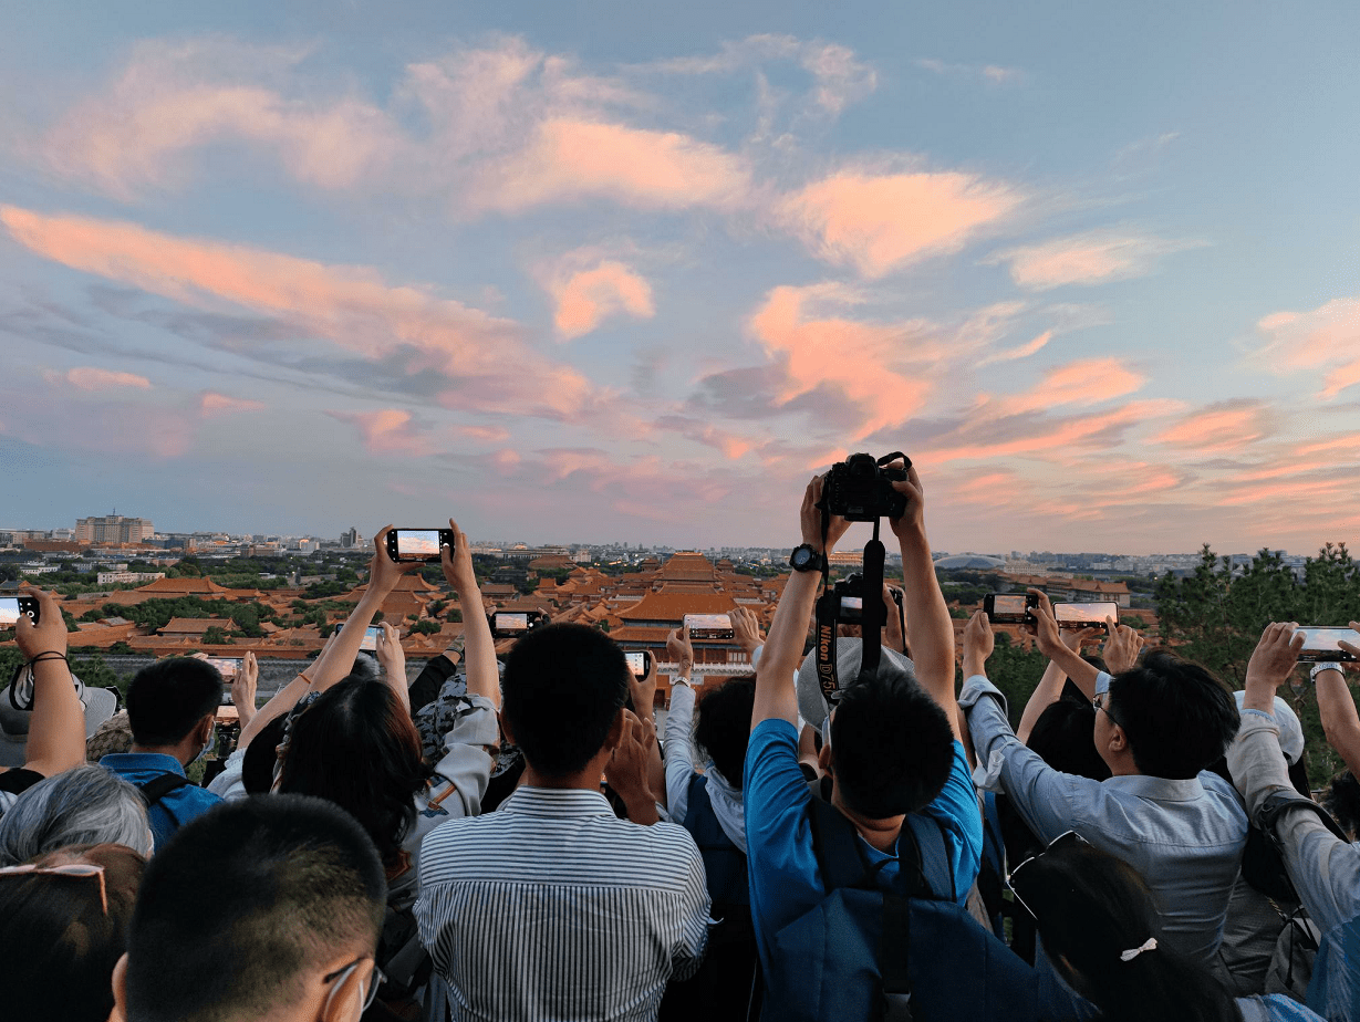
M 968 678 L 959 705 L 978 754 L 974 780 L 1005 791 L 1040 841 L 1076 830 L 1133 866 L 1157 898 L 1163 939 L 1217 968 L 1247 843 L 1247 814 L 1232 786 L 1208 771 L 1189 780 L 1061 773 L 1015 737 L 1005 697 L 985 677 Z

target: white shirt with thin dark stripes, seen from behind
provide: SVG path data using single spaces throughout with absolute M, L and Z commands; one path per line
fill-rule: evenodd
M 684 828 L 525 787 L 426 837 L 415 915 L 456 1019 L 656 1019 L 699 968 L 709 892 Z

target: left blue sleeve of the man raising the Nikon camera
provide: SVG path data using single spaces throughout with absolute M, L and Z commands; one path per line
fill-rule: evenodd
M 751 731 L 743 780 L 751 912 L 758 932 L 772 934 L 826 894 L 808 821 L 812 794 L 798 769 L 793 724 L 771 718 Z

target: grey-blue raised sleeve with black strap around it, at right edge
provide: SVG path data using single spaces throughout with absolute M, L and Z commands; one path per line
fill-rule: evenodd
M 1228 746 L 1228 771 L 1253 822 L 1259 824 L 1266 799 L 1277 792 L 1307 802 L 1293 790 L 1284 764 L 1274 718 L 1243 713 L 1242 730 Z M 1322 932 L 1360 915 L 1360 847 L 1340 840 L 1312 811 L 1282 813 L 1274 833 L 1285 871 Z

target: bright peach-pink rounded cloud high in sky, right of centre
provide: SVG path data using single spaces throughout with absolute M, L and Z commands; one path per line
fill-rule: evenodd
M 1019 202 L 1010 186 L 972 174 L 845 170 L 786 198 L 778 216 L 820 258 L 876 279 L 957 251 Z

